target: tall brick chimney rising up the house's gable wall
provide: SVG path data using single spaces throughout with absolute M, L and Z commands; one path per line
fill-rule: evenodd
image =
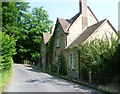
M 88 26 L 87 0 L 79 0 L 79 12 L 82 14 L 82 30 Z

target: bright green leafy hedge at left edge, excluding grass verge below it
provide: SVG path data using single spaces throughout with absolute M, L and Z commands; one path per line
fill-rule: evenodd
M 9 35 L 2 33 L 2 56 L 0 56 L 0 65 L 2 69 L 9 69 L 12 65 L 12 57 L 16 54 L 16 40 Z

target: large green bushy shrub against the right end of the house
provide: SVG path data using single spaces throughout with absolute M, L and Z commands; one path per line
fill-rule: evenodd
M 81 48 L 81 70 L 83 79 L 88 79 L 92 72 L 94 83 L 105 83 L 111 80 L 118 72 L 119 48 L 118 42 L 109 40 L 94 40 Z M 117 66 L 116 66 L 117 65 Z

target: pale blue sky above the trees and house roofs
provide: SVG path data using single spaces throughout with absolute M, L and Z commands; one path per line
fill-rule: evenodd
M 118 30 L 118 2 L 120 0 L 87 0 L 99 21 L 108 19 L 113 27 Z M 79 0 L 27 0 L 31 9 L 41 7 L 45 9 L 55 24 L 57 18 L 70 19 L 79 12 Z

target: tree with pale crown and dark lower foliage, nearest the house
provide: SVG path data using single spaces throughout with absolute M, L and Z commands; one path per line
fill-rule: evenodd
M 17 57 L 32 62 L 40 62 L 40 46 L 43 32 L 49 32 L 52 21 L 43 9 L 34 8 L 32 13 L 24 14 L 20 39 L 17 41 Z

